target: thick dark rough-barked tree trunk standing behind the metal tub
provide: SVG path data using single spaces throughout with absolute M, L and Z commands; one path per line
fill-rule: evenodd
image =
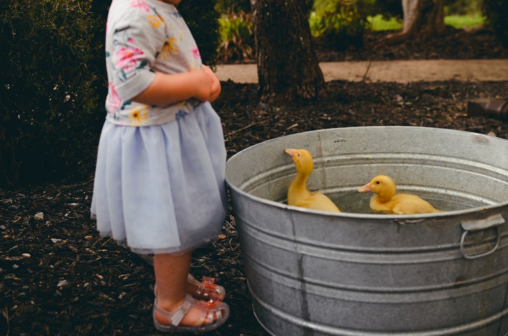
M 326 94 L 305 0 L 250 0 L 260 103 L 291 106 Z

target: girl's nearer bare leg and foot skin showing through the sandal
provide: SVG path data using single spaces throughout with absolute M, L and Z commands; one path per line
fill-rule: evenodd
M 190 269 L 192 251 L 181 255 L 155 254 L 153 269 L 157 284 L 157 305 L 168 312 L 175 312 L 187 294 L 187 275 Z M 191 307 L 180 322 L 181 325 L 194 325 L 201 317 L 200 310 Z M 157 321 L 169 324 L 164 317 L 156 314 Z

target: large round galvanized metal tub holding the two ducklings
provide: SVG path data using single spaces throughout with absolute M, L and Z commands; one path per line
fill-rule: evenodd
M 353 197 L 385 174 L 399 190 L 452 209 L 386 215 L 288 206 L 296 174 L 288 147 L 313 155 L 311 190 Z M 508 141 L 410 126 L 309 131 L 235 154 L 226 181 L 253 311 L 271 334 L 508 333 Z

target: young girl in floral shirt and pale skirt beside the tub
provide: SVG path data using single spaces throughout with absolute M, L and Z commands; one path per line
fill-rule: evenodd
M 188 274 L 193 248 L 224 223 L 226 149 L 210 105 L 220 83 L 202 65 L 179 2 L 111 3 L 91 214 L 103 236 L 154 254 L 155 327 L 203 332 L 229 316 L 224 288 Z

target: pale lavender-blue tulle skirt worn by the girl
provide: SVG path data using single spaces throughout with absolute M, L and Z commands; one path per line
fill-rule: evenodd
M 91 216 L 137 253 L 179 253 L 215 238 L 228 206 L 226 148 L 209 103 L 163 125 L 105 122 Z

